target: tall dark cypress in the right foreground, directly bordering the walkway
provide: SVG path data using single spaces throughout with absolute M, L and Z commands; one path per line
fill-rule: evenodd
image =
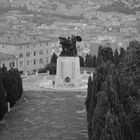
M 130 119 L 119 101 L 117 74 L 110 62 L 96 69 L 93 86 L 88 89 L 90 99 L 88 96 L 86 102 L 89 140 L 133 140 Z

